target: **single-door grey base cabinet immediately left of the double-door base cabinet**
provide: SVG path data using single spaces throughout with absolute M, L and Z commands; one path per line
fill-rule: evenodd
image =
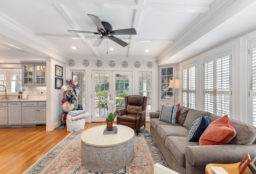
M 21 102 L 8 102 L 8 124 L 21 123 Z

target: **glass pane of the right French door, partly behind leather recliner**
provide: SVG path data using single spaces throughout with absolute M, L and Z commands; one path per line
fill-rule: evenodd
M 116 88 L 116 109 L 124 108 L 124 96 L 128 96 L 129 92 L 129 74 L 116 74 L 115 75 L 115 88 Z M 114 98 L 113 98 L 114 100 Z

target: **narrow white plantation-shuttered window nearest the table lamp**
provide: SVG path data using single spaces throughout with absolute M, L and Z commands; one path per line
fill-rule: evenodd
M 182 67 L 182 104 L 196 108 L 196 63 Z

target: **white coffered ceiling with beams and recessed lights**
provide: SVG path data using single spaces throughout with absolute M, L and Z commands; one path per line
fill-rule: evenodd
M 0 61 L 54 57 L 182 62 L 256 28 L 256 0 L 1 0 Z M 98 35 L 87 14 L 113 30 L 134 28 L 92 46 Z M 74 46 L 76 49 L 72 49 Z M 114 50 L 109 50 L 113 48 Z M 149 50 L 146 52 L 145 50 Z

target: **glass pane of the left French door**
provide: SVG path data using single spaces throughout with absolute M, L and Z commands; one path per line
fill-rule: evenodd
M 95 116 L 108 116 L 108 104 L 102 104 L 104 98 L 109 98 L 110 74 L 95 74 Z

